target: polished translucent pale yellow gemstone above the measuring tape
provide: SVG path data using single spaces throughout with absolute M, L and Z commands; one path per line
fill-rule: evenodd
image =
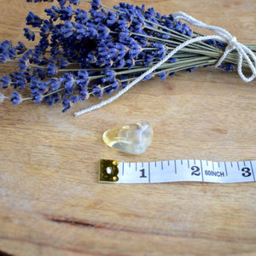
M 151 144 L 153 129 L 146 122 L 119 125 L 105 131 L 103 141 L 109 147 L 127 154 L 143 154 Z

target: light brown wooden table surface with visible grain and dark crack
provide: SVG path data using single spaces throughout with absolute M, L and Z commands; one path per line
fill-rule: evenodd
M 254 0 L 144 3 L 166 15 L 183 10 L 241 43 L 256 43 Z M 0 40 L 21 40 L 28 11 L 42 15 L 49 5 L 0 0 Z M 0 75 L 14 68 L 0 65 Z M 101 158 L 256 160 L 255 81 L 214 68 L 180 72 L 73 116 L 96 102 L 77 103 L 65 114 L 61 104 L 0 106 L 3 255 L 256 255 L 256 183 L 97 183 Z M 107 129 L 142 120 L 154 127 L 144 154 L 103 143 Z

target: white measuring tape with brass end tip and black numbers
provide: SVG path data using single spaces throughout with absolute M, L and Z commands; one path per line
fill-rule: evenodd
M 212 162 L 207 160 L 165 160 L 119 162 L 100 160 L 101 183 L 247 183 L 255 182 L 256 160 Z

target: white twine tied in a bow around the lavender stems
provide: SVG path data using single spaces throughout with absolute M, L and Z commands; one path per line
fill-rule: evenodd
M 142 81 L 148 74 L 153 73 L 154 70 L 159 68 L 162 64 L 164 64 L 166 61 L 168 61 L 172 55 L 175 55 L 177 51 L 180 49 L 183 49 L 189 44 L 193 44 L 198 41 L 205 41 L 209 39 L 217 39 L 220 42 L 226 43 L 227 46 L 224 50 L 224 54 L 221 56 L 221 58 L 218 60 L 216 65 L 214 67 L 218 67 L 221 65 L 221 63 L 224 61 L 225 57 L 234 49 L 238 52 L 239 59 L 238 59 L 238 64 L 237 64 L 237 73 L 240 75 L 241 79 L 245 82 L 251 82 L 253 79 L 256 78 L 256 57 L 253 54 L 253 51 L 251 49 L 248 49 L 247 46 L 244 44 L 241 44 L 236 41 L 236 37 L 233 37 L 230 32 L 227 32 L 223 28 L 219 26 L 211 26 L 207 25 L 200 20 L 196 20 L 194 17 L 187 15 L 181 11 L 177 12 L 174 14 L 174 18 L 176 20 L 185 20 L 187 21 L 190 25 L 192 26 L 197 26 L 201 28 L 208 29 L 212 32 L 215 32 L 217 35 L 210 35 L 210 36 L 202 36 L 202 37 L 196 37 L 196 38 L 191 38 L 188 41 L 184 42 L 183 44 L 179 44 L 175 49 L 172 49 L 172 51 L 166 55 L 161 61 L 159 61 L 157 64 L 155 64 L 153 67 L 149 68 L 148 71 L 137 77 L 137 79 L 133 80 L 131 84 L 128 84 L 123 90 L 119 90 L 119 92 L 108 98 L 106 101 L 102 101 L 96 105 L 91 106 L 90 108 L 85 108 L 84 110 L 81 110 L 79 112 L 74 113 L 75 116 L 82 115 L 84 113 L 89 113 L 93 110 L 96 110 L 98 108 L 102 108 L 103 106 L 115 101 L 119 96 L 122 96 L 127 90 L 130 90 L 132 86 L 137 84 L 138 82 Z M 251 60 L 250 59 L 253 60 Z M 245 75 L 242 73 L 242 61 L 245 59 L 247 61 L 248 66 L 250 67 L 252 71 L 251 77 L 247 78 Z

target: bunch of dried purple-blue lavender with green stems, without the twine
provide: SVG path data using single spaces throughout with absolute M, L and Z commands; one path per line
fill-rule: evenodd
M 82 1 L 90 3 L 88 12 L 74 8 Z M 51 106 L 61 101 L 66 112 L 74 102 L 125 88 L 179 44 L 200 35 L 173 15 L 160 15 L 144 5 L 119 3 L 108 8 L 99 0 L 58 2 L 60 7 L 45 9 L 48 20 L 32 12 L 27 15 L 26 24 L 32 28 L 24 28 L 24 36 L 32 41 L 36 32 L 40 36 L 34 49 L 26 49 L 21 42 L 17 46 L 9 40 L 0 42 L 0 62 L 12 61 L 20 68 L 1 79 L 3 89 L 14 91 L 11 96 L 0 92 L 0 102 L 8 98 L 14 105 L 31 100 Z M 226 45 L 215 39 L 189 44 L 143 80 L 154 76 L 164 80 L 181 70 L 215 65 Z M 256 55 L 255 45 L 247 47 Z M 238 54 L 230 52 L 219 67 L 232 71 L 238 60 Z M 243 61 L 242 67 L 249 68 L 248 63 Z M 30 90 L 29 97 L 17 91 L 25 88 Z

